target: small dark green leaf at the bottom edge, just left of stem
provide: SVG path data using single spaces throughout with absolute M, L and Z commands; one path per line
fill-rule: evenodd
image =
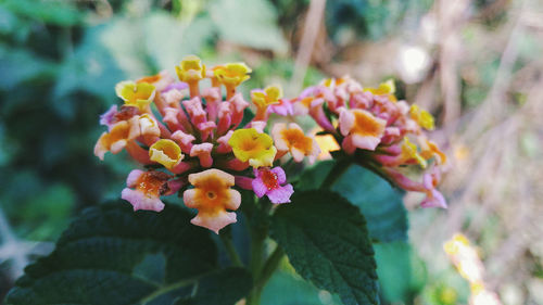
M 252 285 L 253 280 L 247 269 L 226 268 L 200 280 L 195 295 L 175 305 L 232 305 L 249 294 Z

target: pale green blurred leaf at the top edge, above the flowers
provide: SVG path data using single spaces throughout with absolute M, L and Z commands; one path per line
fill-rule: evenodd
M 215 1 L 211 17 L 224 40 L 278 53 L 288 50 L 277 25 L 277 12 L 267 0 Z

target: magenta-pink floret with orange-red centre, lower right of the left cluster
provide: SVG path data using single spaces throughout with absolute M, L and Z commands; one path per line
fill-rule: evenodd
M 281 167 L 261 167 L 254 169 L 253 191 L 258 196 L 267 195 L 275 204 L 290 202 L 290 196 L 294 192 L 292 185 L 287 182 L 287 176 Z

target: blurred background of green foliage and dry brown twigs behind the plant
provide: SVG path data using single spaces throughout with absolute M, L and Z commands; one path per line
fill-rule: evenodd
M 2 0 L 0 300 L 80 209 L 118 198 L 134 165 L 92 154 L 114 85 L 198 54 L 244 61 L 244 88 L 287 97 L 329 76 L 394 78 L 437 117 L 450 208 L 405 198 L 409 243 L 376 249 L 382 303 L 467 304 L 443 250 L 462 232 L 503 304 L 543 304 L 542 50 L 538 0 Z M 288 266 L 264 298 L 338 304 Z

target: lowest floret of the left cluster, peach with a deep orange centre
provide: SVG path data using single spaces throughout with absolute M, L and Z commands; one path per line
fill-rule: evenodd
M 218 234 L 218 230 L 236 223 L 236 213 L 226 209 L 238 209 L 241 194 L 230 189 L 235 183 L 232 175 L 219 169 L 207 169 L 189 175 L 193 189 L 182 194 L 185 205 L 198 209 L 197 217 L 190 223 L 207 228 Z

